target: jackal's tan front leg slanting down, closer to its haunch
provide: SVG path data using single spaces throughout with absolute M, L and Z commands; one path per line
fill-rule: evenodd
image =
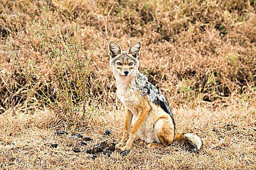
M 148 104 L 147 107 L 144 107 L 141 111 L 139 111 L 138 117 L 135 120 L 135 123 L 131 128 L 130 136 L 128 138 L 126 146 L 121 148 L 122 151 L 129 150 L 131 148 L 132 142 L 135 139 L 136 134 L 137 134 L 139 128 L 141 127 L 142 123 L 146 119 L 146 117 L 149 113 L 149 110 L 150 110 L 150 105 Z

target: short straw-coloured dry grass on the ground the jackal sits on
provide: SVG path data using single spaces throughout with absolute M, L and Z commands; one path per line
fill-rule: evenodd
M 173 109 L 178 132 L 193 131 L 203 140 L 201 153 L 186 152 L 181 144 L 164 149 L 147 149 L 139 146 L 136 138 L 131 152 L 122 157 L 112 153 L 110 157 L 100 153 L 95 160 L 84 152 L 74 153 L 72 147 L 78 142 L 54 135 L 41 120 L 49 119 L 49 112 L 27 116 L 5 116 L 0 119 L 0 165 L 1 169 L 256 169 L 256 108 L 228 107 L 212 111 L 208 108 Z M 88 126 L 63 127 L 69 134 L 77 131 L 90 136 L 94 142 L 90 148 L 104 139 L 106 129 L 113 131 L 108 137 L 119 141 L 122 136 L 123 114 L 101 111 Z M 66 128 L 66 129 L 65 129 Z M 57 128 L 59 129 L 59 128 Z M 56 149 L 49 144 L 56 142 Z M 106 159 L 109 158 L 109 161 Z

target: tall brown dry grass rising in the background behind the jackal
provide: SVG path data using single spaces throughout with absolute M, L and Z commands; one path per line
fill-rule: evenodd
M 59 60 L 72 43 L 81 45 L 78 56 L 85 61 L 97 44 L 95 50 L 98 51 L 90 60 L 92 69 L 89 69 L 91 75 L 86 88 L 102 98 L 98 104 L 108 106 L 116 99 L 116 87 L 108 67 L 109 40 L 117 41 L 123 49 L 137 40 L 142 41 L 140 70 L 167 96 L 171 105 L 255 105 L 255 6 L 253 0 L 182 3 L 75 0 L 50 1 L 49 4 L 3 0 L 0 6 L 0 23 L 4 26 L 0 27 L 0 60 L 3 61 L 0 63 L 0 112 L 24 112 L 27 110 L 20 108 L 28 103 L 31 109 L 42 106 L 37 104 L 42 97 L 35 93 L 24 96 L 27 89 L 16 88 L 3 76 L 33 91 L 41 89 L 39 94 L 44 93 L 56 102 L 57 89 L 61 86 L 56 77 L 63 72 L 51 61 L 52 51 L 60 51 L 55 55 Z M 6 44 L 10 41 L 13 51 Z M 46 49 L 44 44 L 52 46 Z M 17 64 L 10 53 L 15 54 L 20 63 Z M 21 68 L 28 73 L 24 74 Z M 79 87 L 72 71 L 73 68 L 67 69 L 65 74 L 76 91 Z M 28 80 L 34 82 L 27 83 Z

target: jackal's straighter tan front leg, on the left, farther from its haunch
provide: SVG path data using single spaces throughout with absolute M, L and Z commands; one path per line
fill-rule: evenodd
M 124 133 L 123 133 L 123 137 L 122 137 L 122 139 L 121 139 L 121 142 L 116 145 L 116 148 L 125 146 L 126 141 L 127 141 L 127 139 L 128 139 L 129 132 L 130 132 L 130 124 L 131 124 L 132 116 L 133 116 L 133 115 L 132 115 L 131 111 L 130 111 L 128 108 L 126 108 L 126 117 L 125 117 L 125 124 L 124 124 Z

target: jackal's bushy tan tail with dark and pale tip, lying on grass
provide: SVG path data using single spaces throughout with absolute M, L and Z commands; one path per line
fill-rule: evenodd
M 174 141 L 183 142 L 189 146 L 189 152 L 199 153 L 203 143 L 199 136 L 192 133 L 177 134 Z

